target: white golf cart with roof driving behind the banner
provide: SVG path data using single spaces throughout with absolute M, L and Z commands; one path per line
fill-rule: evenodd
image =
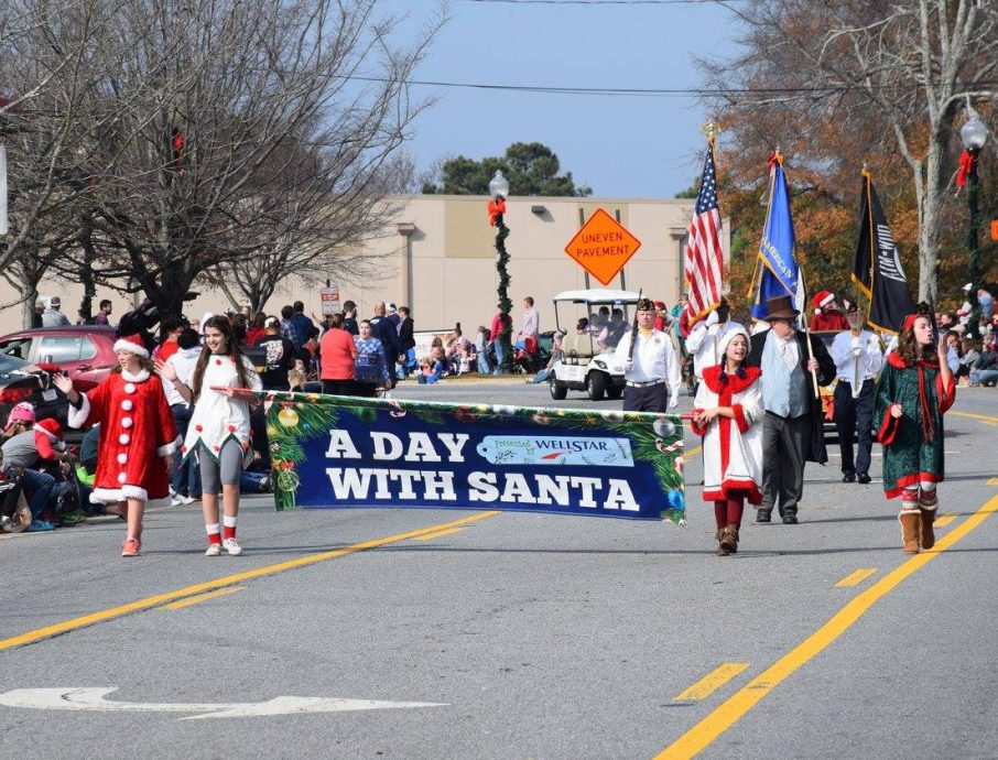
M 623 362 L 617 361 L 614 351 L 619 336 L 630 329 L 638 296 L 631 291 L 605 287 L 565 291 L 554 296 L 554 323 L 566 335 L 562 341 L 564 356 L 551 368 L 547 377 L 552 399 L 561 401 L 569 390 L 586 391 L 590 401 L 599 401 L 604 395 L 620 398 L 625 384 Z M 623 312 L 622 326 L 618 323 L 616 339 L 608 339 L 606 347 L 597 345 L 598 333 L 594 335 L 589 329 L 579 334 L 575 329 L 579 317 L 588 319 L 600 306 Z

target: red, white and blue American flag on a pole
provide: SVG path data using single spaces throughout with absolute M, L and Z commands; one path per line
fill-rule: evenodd
M 690 222 L 690 242 L 683 267 L 688 302 L 690 324 L 709 314 L 720 303 L 724 279 L 724 252 L 720 250 L 720 211 L 717 208 L 717 176 L 714 172 L 714 145 L 707 145 L 704 175 L 693 221 Z

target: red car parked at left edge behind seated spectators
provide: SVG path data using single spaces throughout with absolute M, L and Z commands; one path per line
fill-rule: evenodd
M 23 359 L 46 371 L 68 372 L 76 390 L 88 391 L 118 363 L 115 328 L 68 325 L 23 329 L 0 337 L 0 355 Z

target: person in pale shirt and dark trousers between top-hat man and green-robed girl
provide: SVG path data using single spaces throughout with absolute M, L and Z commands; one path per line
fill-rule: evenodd
M 863 312 L 849 304 L 849 332 L 839 333 L 832 344 L 835 362 L 835 430 L 842 453 L 842 481 L 870 481 L 870 449 L 874 447 L 874 400 L 876 378 L 883 365 L 880 338 L 864 329 Z M 853 436 L 858 450 L 853 458 Z

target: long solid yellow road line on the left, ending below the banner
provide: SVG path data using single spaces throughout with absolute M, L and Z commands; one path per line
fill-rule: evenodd
M 448 530 L 451 528 L 459 528 L 462 525 L 467 525 L 468 523 L 476 522 L 477 520 L 485 520 L 486 518 L 491 518 L 500 512 L 489 511 L 489 512 L 479 512 L 477 514 L 471 514 L 467 518 L 462 518 L 459 520 L 452 520 L 451 522 L 444 522 L 438 525 L 430 525 L 429 528 L 420 528 L 414 531 L 409 531 L 406 533 L 398 533 L 395 535 L 389 535 L 383 539 L 375 539 L 372 541 L 365 541 L 362 543 L 352 544 L 350 546 L 344 546 L 343 549 L 333 550 L 330 552 L 322 552 L 319 554 L 311 554 L 305 557 L 299 557 L 297 560 L 289 560 L 288 562 L 281 562 L 275 565 L 267 565 L 265 567 L 258 567 L 256 569 L 247 571 L 245 573 L 236 573 L 235 575 L 226 575 L 221 578 L 216 578 L 215 580 L 208 580 L 206 583 L 195 584 L 194 586 L 186 586 L 184 588 L 178 588 L 175 591 L 166 591 L 165 594 L 158 594 L 155 596 L 145 597 L 144 599 L 139 599 L 138 601 L 131 601 L 127 605 L 121 605 L 119 607 L 111 607 L 110 609 L 100 610 L 99 612 L 93 612 L 90 615 L 84 615 L 78 618 L 73 618 L 72 620 L 64 620 L 63 622 L 57 622 L 54 626 L 45 626 L 44 628 L 36 628 L 33 631 L 28 631 L 26 633 L 21 633 L 20 636 L 12 636 L 8 639 L 0 640 L 0 651 L 6 649 L 13 649 L 14 647 L 23 647 L 24 644 L 31 644 L 36 641 L 42 641 L 43 639 L 51 639 L 54 636 L 59 636 L 62 633 L 68 633 L 69 631 L 75 631 L 80 628 L 86 628 L 87 626 L 94 626 L 98 622 L 105 622 L 107 620 L 112 620 L 115 618 L 120 618 L 124 615 L 131 615 L 132 612 L 141 612 L 142 610 L 151 609 L 153 607 L 160 607 L 161 605 L 166 605 L 178 599 L 186 599 L 187 597 L 194 597 L 197 595 L 205 595 L 208 591 L 214 591 L 220 588 L 227 588 L 229 586 L 235 586 L 236 584 L 242 583 L 243 580 L 250 580 L 252 578 L 262 578 L 268 575 L 275 575 L 276 573 L 284 573 L 285 571 L 297 569 L 299 567 L 306 567 L 307 565 L 314 565 L 317 562 L 325 562 L 326 560 L 335 560 L 337 557 L 347 556 L 348 554 L 357 554 L 358 552 L 366 552 L 370 549 L 378 549 L 379 546 L 386 546 L 388 544 L 399 543 L 400 541 L 408 541 L 409 539 L 420 539 L 430 533 L 440 533 L 441 531 Z M 198 601 L 202 599 L 198 599 Z

